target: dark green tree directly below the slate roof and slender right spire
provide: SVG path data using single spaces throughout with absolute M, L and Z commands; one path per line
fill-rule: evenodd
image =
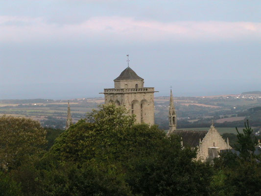
M 129 161 L 126 181 L 134 195 L 208 195 L 212 169 L 193 161 L 195 157 L 196 151 L 182 149 L 180 138 L 172 134 L 155 143 L 155 149 L 149 155 Z

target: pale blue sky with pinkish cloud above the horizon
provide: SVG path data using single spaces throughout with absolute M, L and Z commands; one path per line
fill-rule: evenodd
M 261 90 L 261 1 L 0 0 L 0 99 L 103 97 L 126 54 L 156 97 Z

